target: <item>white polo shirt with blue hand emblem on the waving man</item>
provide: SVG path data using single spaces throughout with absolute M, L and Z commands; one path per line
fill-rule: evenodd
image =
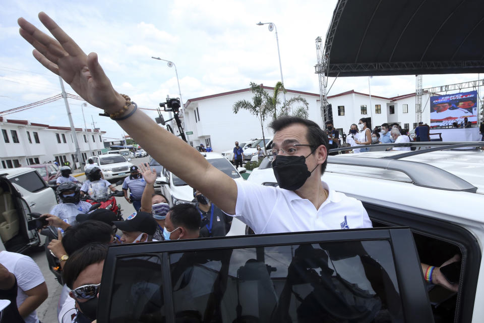
M 294 191 L 251 182 L 237 184 L 235 214 L 256 234 L 372 228 L 368 213 L 355 198 L 323 187 L 328 198 L 316 209 Z

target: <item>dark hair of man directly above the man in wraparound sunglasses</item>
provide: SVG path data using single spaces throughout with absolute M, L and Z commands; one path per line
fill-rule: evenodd
M 111 241 L 112 228 L 107 223 L 88 220 L 66 229 L 62 245 L 68 255 L 81 249 L 88 243 L 105 243 Z

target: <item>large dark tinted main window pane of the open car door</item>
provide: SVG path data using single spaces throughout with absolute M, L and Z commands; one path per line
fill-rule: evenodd
M 172 253 L 170 267 L 181 321 L 404 321 L 385 240 Z

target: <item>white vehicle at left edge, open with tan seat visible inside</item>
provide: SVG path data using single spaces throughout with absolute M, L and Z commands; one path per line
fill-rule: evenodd
M 28 230 L 31 212 L 48 213 L 55 194 L 36 169 L 0 170 L 0 250 L 23 252 L 40 244 L 36 230 Z

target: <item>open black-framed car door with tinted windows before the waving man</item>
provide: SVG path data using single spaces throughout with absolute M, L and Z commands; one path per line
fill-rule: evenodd
M 111 246 L 97 318 L 432 322 L 407 228 Z

